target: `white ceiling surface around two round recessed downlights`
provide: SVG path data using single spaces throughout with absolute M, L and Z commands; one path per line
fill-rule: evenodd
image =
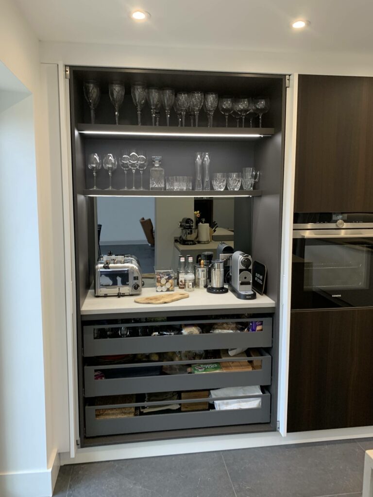
M 43 41 L 373 52 L 372 0 L 17 0 Z M 151 14 L 134 22 L 129 13 Z M 311 25 L 295 32 L 292 20 Z

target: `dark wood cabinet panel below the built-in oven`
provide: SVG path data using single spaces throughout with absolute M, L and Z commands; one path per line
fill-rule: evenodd
M 291 313 L 287 431 L 373 424 L 373 309 Z

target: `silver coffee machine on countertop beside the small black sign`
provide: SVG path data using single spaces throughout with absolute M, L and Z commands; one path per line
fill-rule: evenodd
M 253 260 L 245 252 L 236 251 L 231 257 L 231 281 L 229 290 L 234 295 L 243 300 L 256 299 L 257 294 L 252 288 Z

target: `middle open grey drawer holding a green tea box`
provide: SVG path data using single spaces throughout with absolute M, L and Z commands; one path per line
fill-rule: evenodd
M 255 357 L 207 359 L 194 361 L 149 362 L 138 364 L 115 364 L 110 366 L 86 366 L 84 368 L 85 397 L 101 395 L 139 394 L 171 390 L 211 389 L 245 385 L 270 385 L 272 357 L 263 349 Z M 162 374 L 164 365 L 211 364 L 248 361 L 260 366 L 248 371 L 223 369 L 211 373 Z M 150 371 L 148 371 L 150 370 Z

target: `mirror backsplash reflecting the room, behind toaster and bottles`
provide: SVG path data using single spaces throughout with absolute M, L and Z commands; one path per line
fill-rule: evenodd
M 136 255 L 149 276 L 154 267 L 176 271 L 181 254 L 194 262 L 205 251 L 216 258 L 220 242 L 234 246 L 234 202 L 232 197 L 97 197 L 100 251 Z

